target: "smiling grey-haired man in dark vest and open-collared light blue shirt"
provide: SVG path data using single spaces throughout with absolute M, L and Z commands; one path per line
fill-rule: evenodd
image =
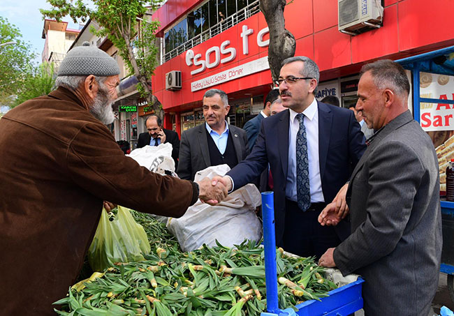
M 228 125 L 230 110 L 224 91 L 210 89 L 203 96 L 205 124 L 185 130 L 182 134 L 180 164 L 181 179 L 194 179 L 196 172 L 213 165 L 234 167 L 249 154 L 244 130 Z

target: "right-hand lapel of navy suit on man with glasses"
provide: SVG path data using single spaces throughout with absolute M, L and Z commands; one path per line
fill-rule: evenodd
M 318 163 L 320 163 L 320 179 L 323 181 L 325 174 L 326 158 L 330 144 L 330 134 L 332 130 L 332 113 L 329 107 L 323 103 L 318 103 Z

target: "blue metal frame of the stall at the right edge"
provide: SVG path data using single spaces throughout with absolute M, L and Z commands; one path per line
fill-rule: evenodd
M 454 46 L 397 60 L 405 69 L 411 70 L 413 78 L 413 117 L 420 122 L 420 103 L 445 104 L 454 107 L 454 100 L 422 98 L 420 73 L 454 76 Z M 442 197 L 443 199 L 443 197 Z M 448 275 L 448 289 L 454 302 L 454 202 L 441 201 L 443 223 L 442 273 Z

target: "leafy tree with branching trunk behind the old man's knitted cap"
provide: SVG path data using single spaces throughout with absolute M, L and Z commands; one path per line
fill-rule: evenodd
M 139 81 L 138 90 L 146 98 L 156 114 L 163 116 L 161 103 L 152 95 L 151 76 L 158 65 L 158 47 L 155 45 L 155 33 L 159 27 L 157 21 L 146 21 L 147 11 L 156 10 L 155 0 L 92 0 L 90 7 L 82 0 L 47 0 L 54 8 L 41 9 L 44 17 L 61 20 L 69 15 L 74 22 L 85 22 L 87 17 L 95 21 L 101 29 L 90 29 L 96 36 L 108 36 L 117 47 L 119 55 L 126 62 L 131 75 Z M 86 1 L 87 3 L 89 1 Z M 143 21 L 143 22 L 142 22 Z

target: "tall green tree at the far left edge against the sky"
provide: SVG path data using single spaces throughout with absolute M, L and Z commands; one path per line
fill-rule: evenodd
M 10 43 L 13 42 L 13 43 Z M 2 45 L 10 43 L 9 45 Z M 14 96 L 33 70 L 31 46 L 13 24 L 0 17 L 0 105 L 12 105 Z

